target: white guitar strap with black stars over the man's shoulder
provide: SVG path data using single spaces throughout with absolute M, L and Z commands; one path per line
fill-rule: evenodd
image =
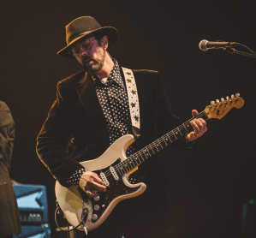
M 134 73 L 131 69 L 128 68 L 122 68 L 122 71 L 124 74 L 128 93 L 128 104 L 132 121 L 132 129 L 134 137 L 138 139 L 140 137 L 140 104 L 137 86 L 134 79 Z

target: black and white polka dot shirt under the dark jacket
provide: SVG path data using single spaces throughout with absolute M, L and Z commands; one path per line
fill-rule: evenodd
M 110 135 L 110 145 L 124 134 L 133 134 L 130 111 L 128 107 L 128 95 L 120 74 L 118 62 L 110 72 L 109 78 L 100 80 L 96 74 L 92 74 L 98 101 L 104 112 L 107 128 Z M 134 153 L 134 147 L 129 146 L 127 157 Z M 81 174 L 77 171 L 68 179 L 69 184 L 78 184 Z

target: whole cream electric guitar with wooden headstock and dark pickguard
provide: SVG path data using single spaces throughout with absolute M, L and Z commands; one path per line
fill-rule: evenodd
M 68 223 L 73 227 L 77 226 L 77 229 L 85 229 L 85 231 L 96 229 L 110 215 L 118 202 L 138 196 L 145 191 L 145 183 L 131 184 L 128 181 L 128 175 L 138 170 L 138 166 L 147 158 L 160 152 L 185 134 L 192 132 L 193 127 L 190 122 L 194 118 L 221 119 L 233 107 L 240 109 L 244 101 L 239 96 L 239 93 L 236 93 L 235 96 L 227 97 L 226 100 L 222 98 L 216 103 L 211 101 L 211 104 L 198 116 L 182 123 L 129 158 L 126 157 L 126 150 L 135 139 L 133 135 L 126 134 L 116 140 L 99 158 L 81 162 L 80 164 L 87 171 L 98 174 L 107 189 L 104 193 L 98 193 L 98 197 L 89 198 L 78 186 L 63 187 L 57 181 L 57 201 Z

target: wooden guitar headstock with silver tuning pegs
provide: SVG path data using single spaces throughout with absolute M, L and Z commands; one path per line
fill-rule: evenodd
M 208 105 L 205 108 L 206 115 L 209 117 L 209 119 L 221 119 L 233 107 L 238 109 L 241 108 L 244 104 L 244 101 L 239 96 L 240 94 L 236 93 L 235 96 L 231 95 L 231 98 L 226 97 L 226 100 L 224 98 L 221 98 L 221 101 L 219 101 L 218 99 L 216 100 L 216 102 L 211 101 L 211 105 Z

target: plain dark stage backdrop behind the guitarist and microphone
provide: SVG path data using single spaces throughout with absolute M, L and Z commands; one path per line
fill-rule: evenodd
M 35 152 L 36 137 L 56 97 L 57 81 L 81 69 L 57 56 L 66 45 L 64 27 L 91 15 L 102 26 L 118 29 L 120 38 L 110 54 L 122 66 L 161 72 L 182 122 L 211 100 L 241 93 L 244 107 L 221 121 L 208 121 L 198 149 L 167 150 L 161 159 L 178 235 L 240 237 L 242 204 L 256 199 L 256 59 L 199 51 L 198 44 L 219 39 L 256 51 L 255 6 L 253 1 L 206 0 L 1 1 L 0 99 L 16 123 L 11 177 L 46 186 L 53 229 L 55 181 Z

